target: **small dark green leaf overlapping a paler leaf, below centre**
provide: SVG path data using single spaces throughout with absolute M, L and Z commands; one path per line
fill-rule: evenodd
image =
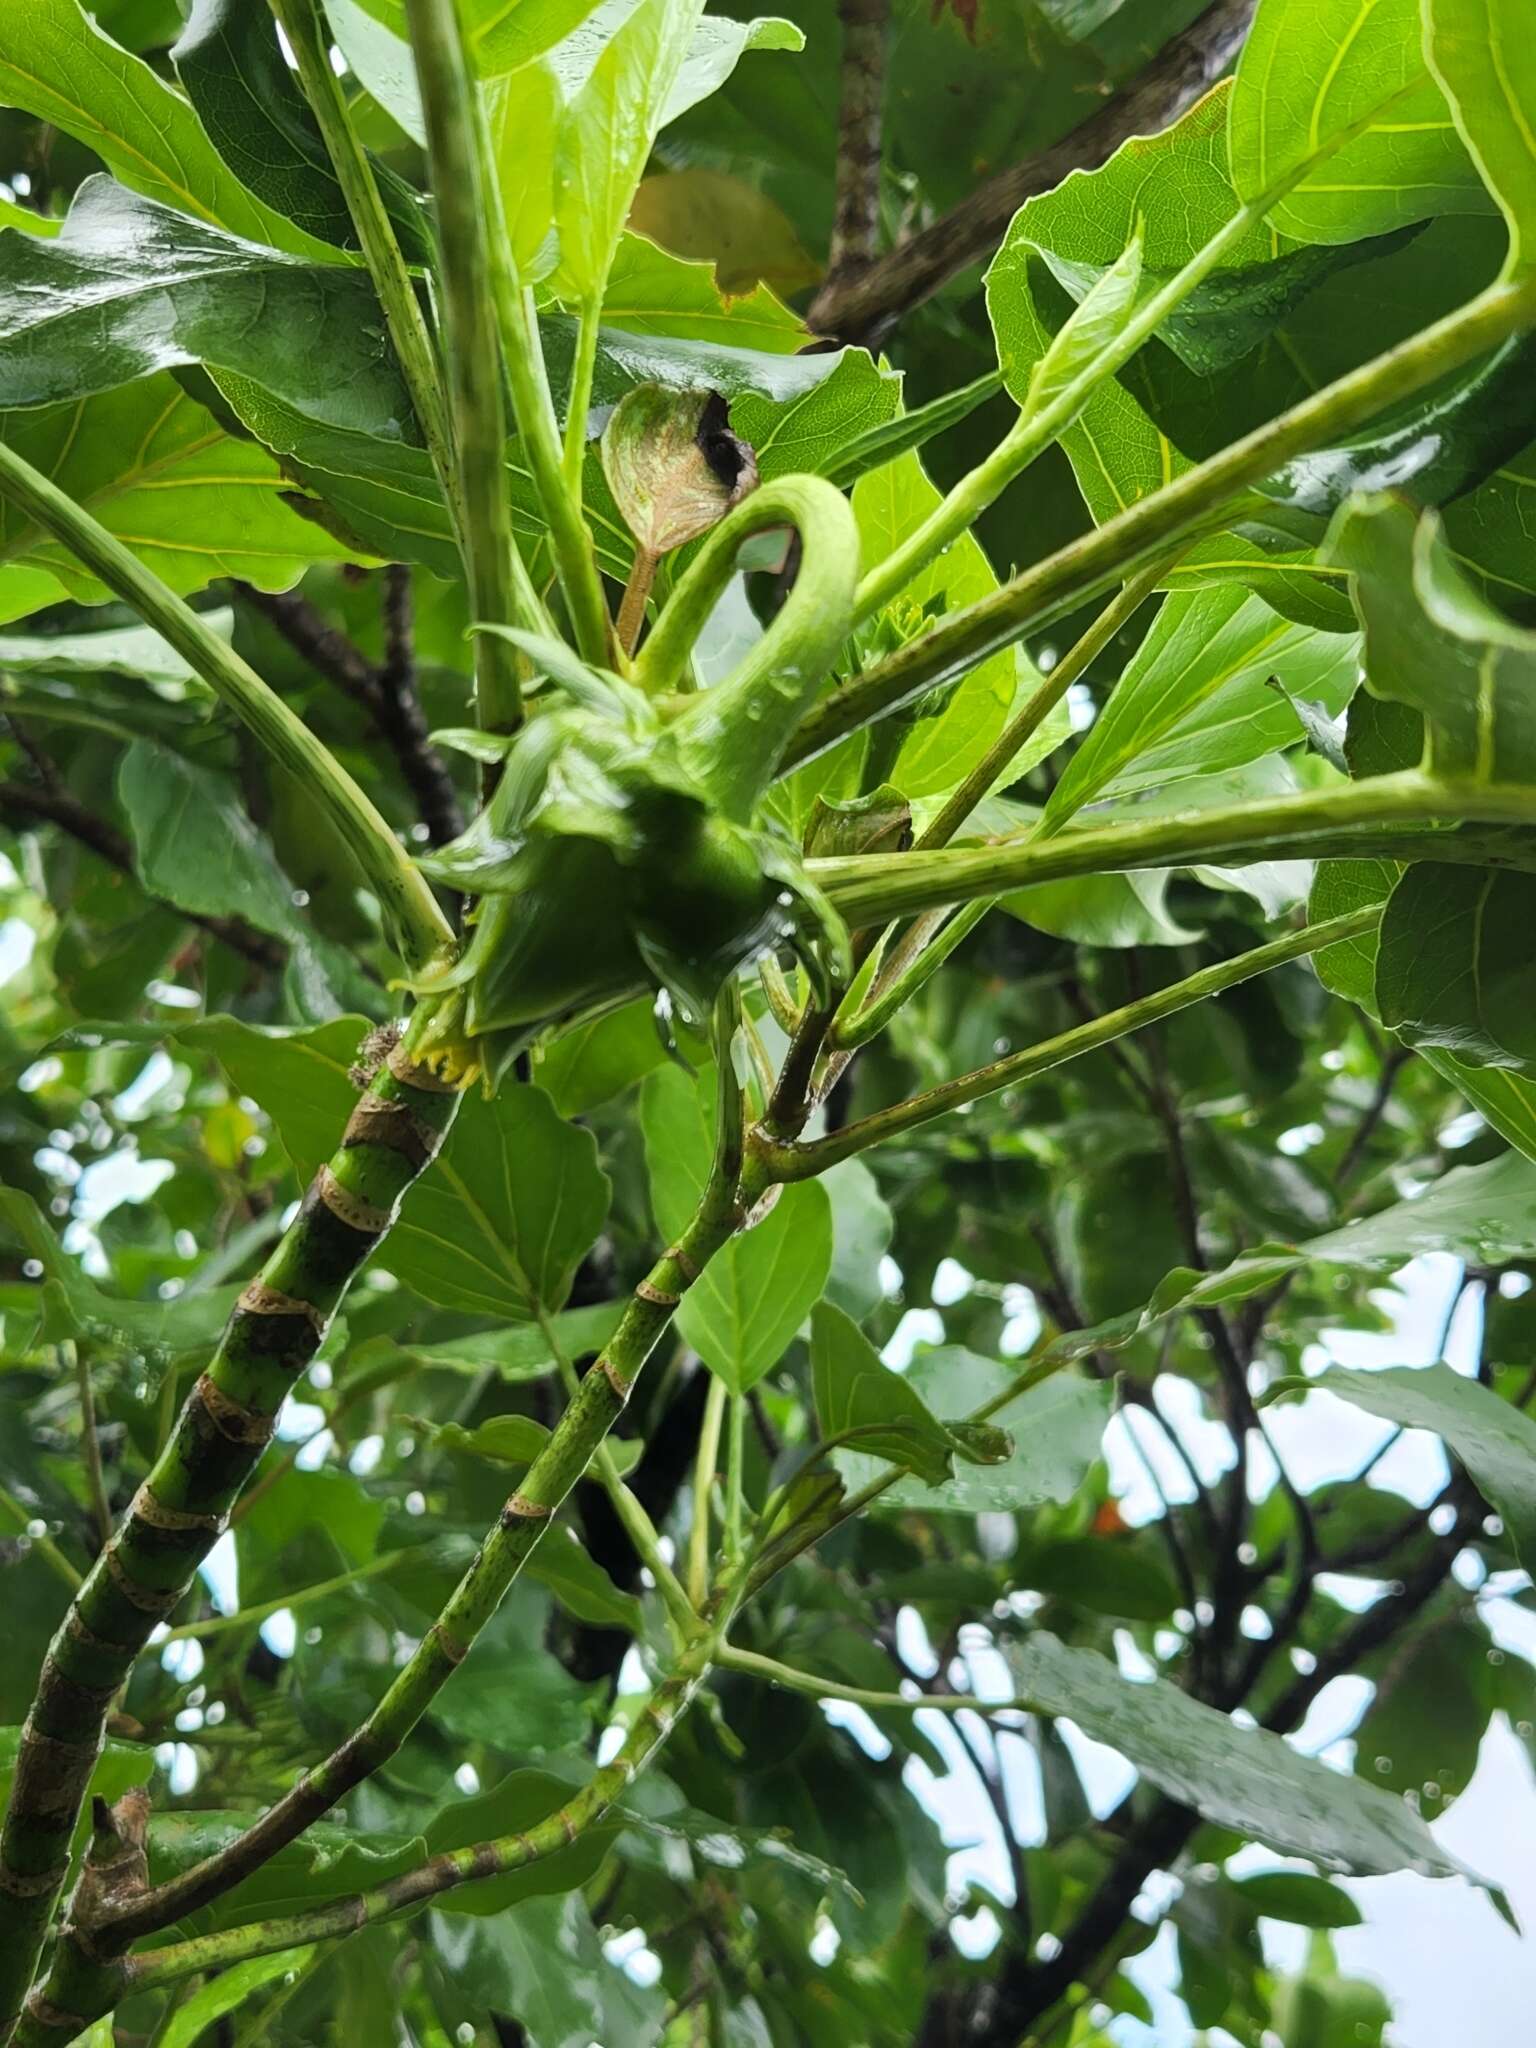
M 956 1458 L 1001 1464 L 1014 1450 L 1006 1430 L 930 1415 L 918 1389 L 883 1364 L 858 1323 L 831 1303 L 821 1303 L 811 1317 L 811 1378 L 823 1440 L 852 1442 L 930 1487 L 950 1477 Z

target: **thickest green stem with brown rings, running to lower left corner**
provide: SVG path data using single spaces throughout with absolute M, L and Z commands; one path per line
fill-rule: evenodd
M 440 1063 L 412 1057 L 424 1053 L 430 1028 L 430 1012 L 418 1012 L 352 1110 L 338 1151 L 240 1296 L 170 1442 L 43 1659 L 0 1835 L 0 1894 L 8 1901 L 0 2040 L 27 1997 L 68 1874 L 70 1837 L 113 1698 L 223 1534 L 293 1382 L 459 1108 L 467 1073 L 444 1075 Z

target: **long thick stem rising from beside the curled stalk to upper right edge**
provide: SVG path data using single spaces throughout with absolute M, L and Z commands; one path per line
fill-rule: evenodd
M 1024 633 L 1061 618 L 1141 567 L 1153 551 L 1188 541 L 1202 528 L 1219 530 L 1233 500 L 1294 455 L 1341 440 L 1389 406 L 1532 326 L 1536 276 L 1489 287 L 1470 305 L 1325 385 L 989 596 L 940 618 L 932 633 L 899 647 L 817 705 L 801 723 L 784 768 L 797 768 L 848 733 L 967 674 Z

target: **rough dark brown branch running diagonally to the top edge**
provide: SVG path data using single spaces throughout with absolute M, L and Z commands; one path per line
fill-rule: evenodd
M 1153 57 L 1141 78 L 1061 141 L 997 172 L 952 213 L 858 274 L 829 276 L 811 303 L 809 324 L 836 340 L 879 342 L 901 313 L 989 256 L 1026 199 L 1049 193 L 1071 170 L 1096 170 L 1130 135 L 1155 135 L 1178 121 L 1241 49 L 1253 6 L 1255 0 L 1212 0 L 1184 35 L 1176 35 Z

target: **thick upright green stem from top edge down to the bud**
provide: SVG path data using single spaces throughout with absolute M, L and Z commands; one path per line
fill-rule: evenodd
M 422 88 L 426 152 L 438 207 L 442 348 L 463 500 L 463 555 L 471 618 L 479 625 L 545 629 L 543 604 L 512 532 L 506 487 L 502 348 L 485 238 L 487 195 L 475 135 L 481 115 L 469 76 L 455 0 L 408 0 L 412 51 Z M 479 723 L 512 733 L 522 723 L 516 649 L 498 633 L 475 635 Z

